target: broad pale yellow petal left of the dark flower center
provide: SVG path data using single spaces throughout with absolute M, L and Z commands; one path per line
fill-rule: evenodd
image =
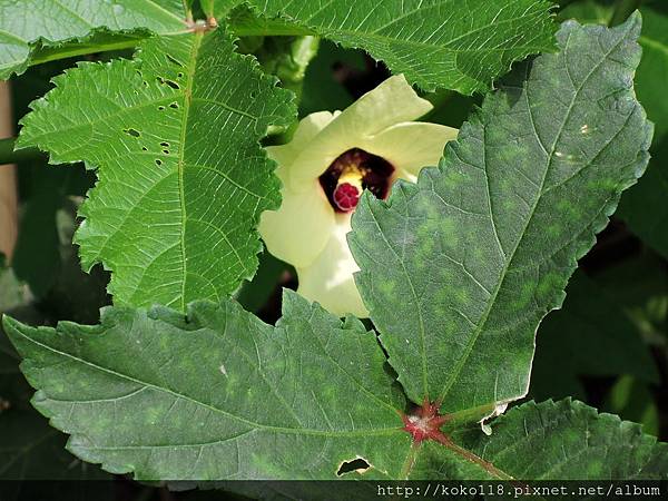
M 259 218 L 259 234 L 267 249 L 295 267 L 310 266 L 323 252 L 334 230 L 334 209 L 317 179 L 311 189 L 281 190 L 278 210 L 265 210 Z

